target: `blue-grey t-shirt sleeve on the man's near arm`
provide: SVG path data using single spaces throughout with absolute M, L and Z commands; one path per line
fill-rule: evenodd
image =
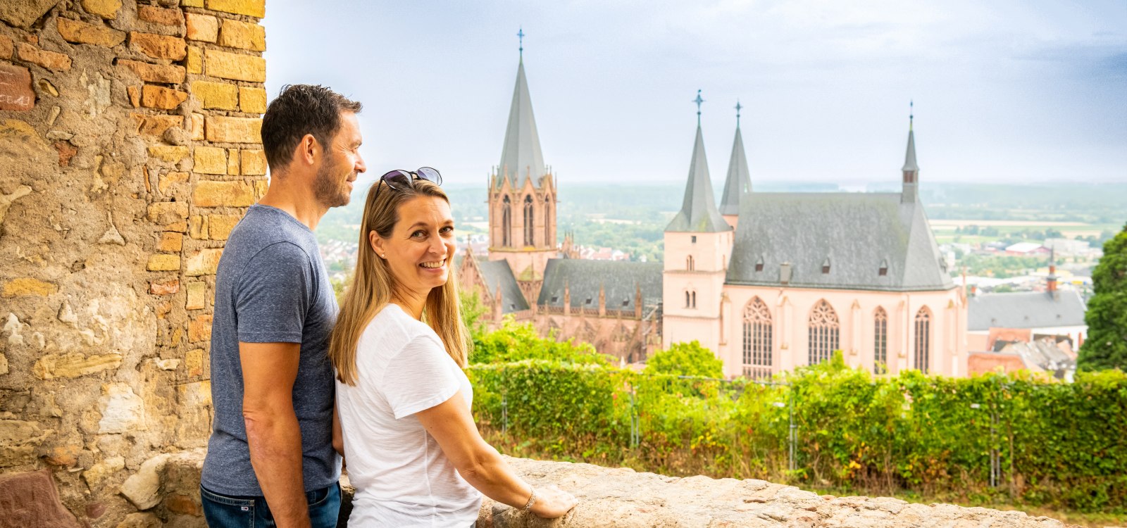
M 239 341 L 300 343 L 312 298 L 309 256 L 289 242 L 270 244 L 241 277 L 234 293 Z

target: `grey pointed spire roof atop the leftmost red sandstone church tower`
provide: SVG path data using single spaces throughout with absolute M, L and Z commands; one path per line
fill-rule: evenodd
M 517 36 L 521 38 L 521 62 L 516 66 L 516 87 L 513 88 L 513 104 L 508 109 L 508 126 L 505 128 L 495 186 L 500 186 L 502 178 L 508 178 L 514 187 L 523 186 L 527 178 L 533 178 L 535 184 L 535 178 L 548 172 L 544 154 L 540 151 L 536 118 L 532 115 L 529 81 L 524 77 L 524 30 Z

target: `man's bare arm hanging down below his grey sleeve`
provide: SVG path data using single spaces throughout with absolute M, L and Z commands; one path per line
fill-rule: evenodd
M 301 343 L 239 342 L 250 465 L 281 528 L 310 526 L 301 473 L 301 429 L 293 410 L 300 359 Z

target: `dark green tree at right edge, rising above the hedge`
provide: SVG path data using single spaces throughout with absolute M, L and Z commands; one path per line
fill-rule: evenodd
M 1103 244 L 1092 270 L 1094 294 L 1088 302 L 1088 340 L 1076 366 L 1083 370 L 1127 370 L 1127 225 Z

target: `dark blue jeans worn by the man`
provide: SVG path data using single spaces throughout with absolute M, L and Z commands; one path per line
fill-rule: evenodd
M 309 520 L 313 528 L 335 528 L 340 513 L 340 485 L 307 491 Z M 211 528 L 269 528 L 275 526 L 263 496 L 221 495 L 199 486 L 204 519 Z

